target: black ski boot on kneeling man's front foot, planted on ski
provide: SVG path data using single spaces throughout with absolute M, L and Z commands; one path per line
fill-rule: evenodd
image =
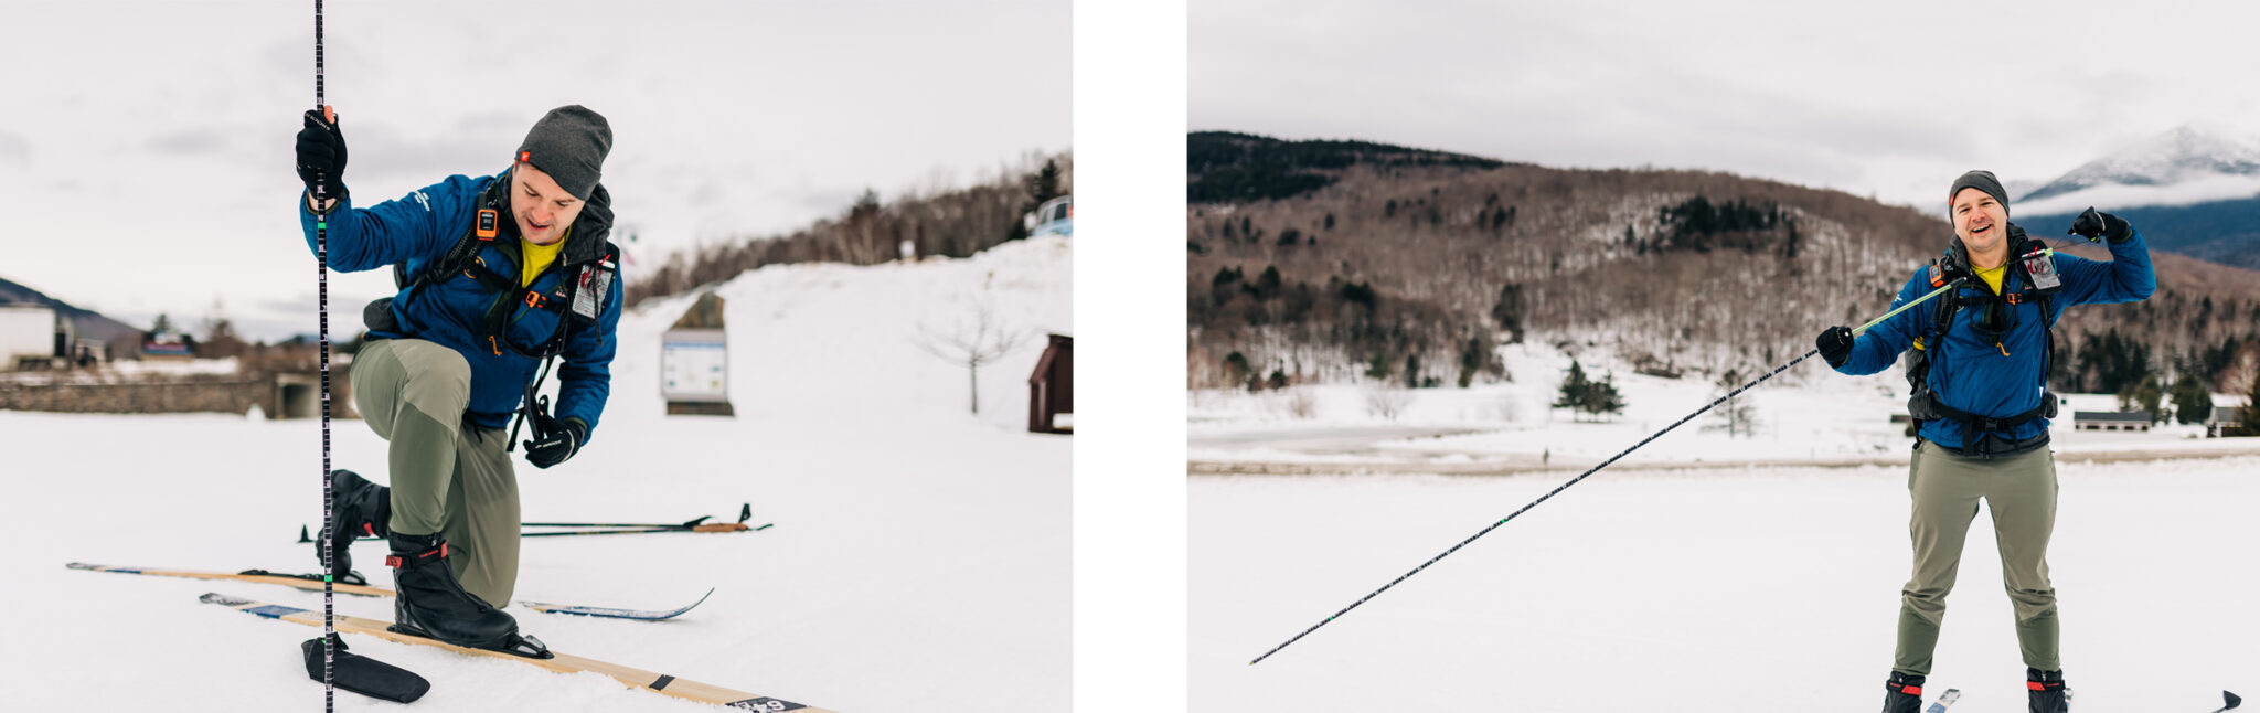
M 461 647 L 495 650 L 527 659 L 549 659 L 549 647 L 518 634 L 518 620 L 463 591 L 447 568 L 447 543 L 438 534 L 391 534 L 393 600 L 391 632 L 436 638 Z

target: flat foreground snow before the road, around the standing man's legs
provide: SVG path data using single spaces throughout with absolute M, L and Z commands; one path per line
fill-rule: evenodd
M 2059 464 L 2075 711 L 2260 690 L 2260 457 Z M 1566 475 L 1196 475 L 1191 711 L 1876 711 L 1907 579 L 1905 466 L 1602 471 L 1324 620 Z M 2025 711 L 1977 514 L 1932 693 Z

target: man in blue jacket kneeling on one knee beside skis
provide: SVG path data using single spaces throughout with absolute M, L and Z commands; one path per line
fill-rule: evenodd
M 346 138 L 307 111 L 298 131 L 298 217 L 307 247 L 328 231 L 330 267 L 393 265 L 400 292 L 364 310 L 353 405 L 391 441 L 391 487 L 334 473 L 332 575 L 359 579 L 346 548 L 386 536 L 395 629 L 466 647 L 547 656 L 502 613 L 518 584 L 513 414 L 531 426 L 527 462 L 556 466 L 588 446 L 610 394 L 619 251 L 597 183 L 612 129 L 583 106 L 549 111 L 495 177 L 447 177 L 355 208 L 341 181 Z M 316 186 L 321 190 L 316 190 Z M 563 358 L 556 412 L 536 367 Z M 547 376 L 547 367 L 540 369 Z

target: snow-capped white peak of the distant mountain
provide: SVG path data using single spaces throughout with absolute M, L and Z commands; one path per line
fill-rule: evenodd
M 2183 124 L 2079 165 L 2011 199 L 2020 215 L 2086 206 L 2188 206 L 2260 192 L 2260 140 L 2237 129 Z

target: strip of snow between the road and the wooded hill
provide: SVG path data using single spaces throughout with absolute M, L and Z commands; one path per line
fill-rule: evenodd
M 1376 389 L 1370 385 L 1311 385 L 1286 392 L 1191 392 L 1186 396 L 1189 457 L 1214 471 L 1451 471 L 1501 473 L 1589 469 L 1648 435 L 1722 396 L 1718 378 L 1686 373 L 1657 378 L 1593 351 L 1580 367 L 1591 378 L 1614 376 L 1625 412 L 1607 419 L 1548 407 L 1557 398 L 1571 355 L 1544 344 L 1501 351 L 1512 383 L 1469 389 Z M 1794 355 L 1781 355 L 1790 360 Z M 1772 369 L 1772 364 L 1767 367 Z M 1756 378 L 1745 373 L 1742 380 Z M 1397 398 L 1394 419 L 1376 401 Z M 2052 421 L 2052 444 L 2068 457 L 2106 453 L 2253 453 L 2260 439 L 2204 439 L 2201 426 L 2167 423 L 2149 432 L 2072 430 L 2075 410 L 2115 412 L 2109 394 L 2070 394 Z M 1828 371 L 1819 358 L 1742 392 L 1754 428 L 1729 435 L 1718 410 L 1634 450 L 1620 466 L 1684 464 L 1885 464 L 1903 462 L 1912 439 L 1892 414 L 1907 412 L 1907 383 L 1898 367 L 1874 376 Z M 2215 394 L 2219 407 L 2244 396 Z

